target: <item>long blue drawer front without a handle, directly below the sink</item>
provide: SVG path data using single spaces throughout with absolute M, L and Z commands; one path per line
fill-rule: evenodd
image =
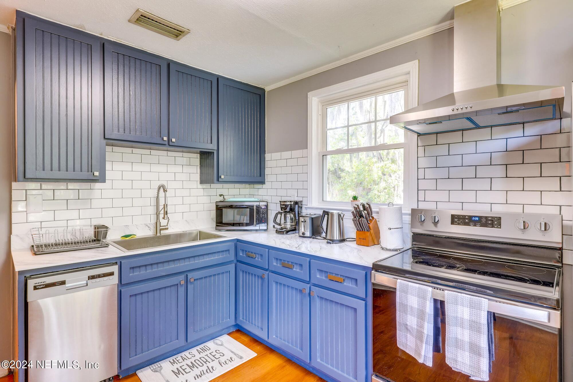
M 152 256 L 121 262 L 121 283 L 150 279 L 176 272 L 230 262 L 235 259 L 234 243 L 190 247 L 159 252 Z

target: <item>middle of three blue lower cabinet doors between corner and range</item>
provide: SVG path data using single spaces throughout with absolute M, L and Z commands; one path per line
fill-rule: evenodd
M 269 273 L 269 342 L 309 362 L 309 285 Z

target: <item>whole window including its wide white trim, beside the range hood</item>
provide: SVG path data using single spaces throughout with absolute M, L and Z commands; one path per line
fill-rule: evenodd
M 309 93 L 311 208 L 415 206 L 417 140 L 389 120 L 416 100 L 417 61 Z

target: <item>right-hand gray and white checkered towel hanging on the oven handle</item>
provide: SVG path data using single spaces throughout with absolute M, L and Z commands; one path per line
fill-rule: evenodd
M 478 381 L 489 380 L 488 301 L 446 291 L 446 364 Z

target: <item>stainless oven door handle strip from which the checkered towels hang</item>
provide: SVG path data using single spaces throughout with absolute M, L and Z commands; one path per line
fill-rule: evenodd
M 459 289 L 450 288 L 447 286 L 440 285 L 439 287 L 433 287 L 432 284 L 419 282 L 418 280 L 409 279 L 406 277 L 382 274 L 378 271 L 372 271 L 372 283 L 384 285 L 391 288 L 396 288 L 398 280 L 404 280 L 407 282 L 422 284 L 431 287 L 431 297 L 444 301 L 445 291 L 452 291 L 457 293 L 462 293 Z M 553 328 L 561 327 L 561 318 L 559 310 L 544 309 L 541 307 L 531 307 L 530 305 L 525 305 L 523 303 L 509 301 L 506 299 L 500 299 L 495 297 L 484 297 L 478 293 L 471 293 L 464 291 L 464 294 L 473 295 L 476 297 L 485 298 L 488 300 L 488 310 L 493 313 L 507 315 L 508 317 L 527 319 L 529 321 L 536 321 L 544 323 L 545 325 L 552 326 Z

